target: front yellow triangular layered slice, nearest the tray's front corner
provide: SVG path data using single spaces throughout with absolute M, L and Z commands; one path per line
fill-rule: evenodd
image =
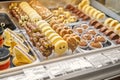
M 20 45 L 16 45 L 13 48 L 13 53 L 15 54 L 15 56 L 12 62 L 15 66 L 30 64 L 35 61 L 35 58 L 28 54 L 28 52 L 24 51 L 24 49 Z

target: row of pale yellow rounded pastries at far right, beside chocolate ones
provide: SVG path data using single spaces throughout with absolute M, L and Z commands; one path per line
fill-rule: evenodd
M 95 9 L 94 7 L 90 6 L 89 0 L 82 0 L 78 5 L 78 9 L 96 20 L 105 19 L 105 14 Z M 103 24 L 104 26 L 106 26 L 102 28 L 103 30 L 107 28 L 109 29 L 109 31 L 106 31 L 106 33 L 110 33 L 110 32 L 114 33 L 113 35 L 111 35 L 111 38 L 113 37 L 119 38 L 117 35 L 120 36 L 120 23 L 117 20 L 114 20 L 112 18 L 107 18 L 104 20 Z

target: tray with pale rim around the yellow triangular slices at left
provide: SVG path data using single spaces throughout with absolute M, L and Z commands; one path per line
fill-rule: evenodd
M 0 3 L 1 4 L 1 3 Z M 6 5 L 8 3 L 5 3 Z M 15 22 L 13 21 L 13 19 L 11 18 L 11 16 L 9 15 L 8 11 L 7 11 L 7 8 L 3 9 L 1 8 L 1 11 L 0 11 L 0 23 L 1 22 L 4 22 L 6 24 L 6 27 L 4 27 L 4 29 L 6 28 L 10 28 L 11 30 L 13 30 L 14 32 L 16 32 L 17 34 L 21 34 L 22 37 L 25 37 L 23 35 L 23 33 L 21 32 L 21 30 L 19 29 L 19 27 L 17 26 L 17 24 L 15 24 Z M 37 54 L 35 53 L 35 51 L 33 50 L 33 48 L 31 47 L 31 44 L 26 40 L 26 38 L 24 38 L 25 40 L 25 44 L 30 48 L 30 52 L 29 54 L 34 56 L 36 59 L 33 63 L 31 64 L 26 64 L 26 65 L 33 65 L 33 64 L 36 64 L 39 61 L 38 57 L 37 57 Z M 9 69 L 5 69 L 5 70 L 2 70 L 0 71 L 0 73 L 2 72 L 7 72 L 7 71 L 14 71 L 14 70 L 18 70 L 18 69 L 21 69 L 22 67 L 26 66 L 26 65 L 23 65 L 23 66 L 18 66 L 18 67 L 15 67 L 12 63 L 12 59 L 13 57 L 11 56 L 10 57 L 10 60 L 11 60 L 11 64 L 10 64 L 10 68 Z

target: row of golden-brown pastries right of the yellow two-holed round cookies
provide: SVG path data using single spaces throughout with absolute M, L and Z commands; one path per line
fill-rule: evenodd
M 67 41 L 68 47 L 72 50 L 72 52 L 74 52 L 80 42 L 80 37 L 68 26 L 59 23 L 58 21 L 52 20 L 49 23 L 52 29 L 54 29 L 65 41 Z

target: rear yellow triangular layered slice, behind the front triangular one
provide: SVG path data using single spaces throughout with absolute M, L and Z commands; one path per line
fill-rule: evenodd
M 11 31 L 10 29 L 5 29 L 4 30 L 4 36 L 5 36 L 5 42 L 4 45 L 9 45 L 9 50 L 10 50 L 10 54 L 12 56 L 14 56 L 12 50 L 13 47 L 16 45 L 21 45 L 24 49 L 24 51 L 29 52 L 29 48 L 24 45 L 24 40 L 22 38 L 20 38 L 15 32 Z

